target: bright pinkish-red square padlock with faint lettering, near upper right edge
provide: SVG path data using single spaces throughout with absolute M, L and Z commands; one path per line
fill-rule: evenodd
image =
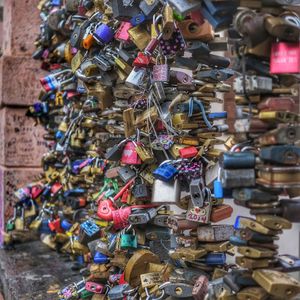
M 276 43 L 272 45 L 270 73 L 299 73 L 300 44 Z

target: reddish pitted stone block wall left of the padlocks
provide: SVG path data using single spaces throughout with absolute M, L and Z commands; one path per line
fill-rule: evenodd
M 12 214 L 14 191 L 41 172 L 46 152 L 44 131 L 25 116 L 26 106 L 37 101 L 40 62 L 34 61 L 39 31 L 39 0 L 3 0 L 0 21 L 0 229 Z M 1 17 L 1 10 L 0 10 Z M 2 30 L 4 28 L 5 30 Z M 0 243 L 1 243 L 0 231 Z

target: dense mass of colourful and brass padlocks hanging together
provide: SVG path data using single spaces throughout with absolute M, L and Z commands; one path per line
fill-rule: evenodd
M 300 195 L 300 21 L 286 5 L 300 2 L 40 1 L 33 57 L 49 75 L 28 116 L 50 151 L 16 192 L 6 243 L 30 229 L 71 256 L 83 280 L 59 299 L 300 293 L 287 275 L 299 258 L 275 244 L 300 221 L 288 199 Z M 224 197 L 255 218 L 224 224 Z

